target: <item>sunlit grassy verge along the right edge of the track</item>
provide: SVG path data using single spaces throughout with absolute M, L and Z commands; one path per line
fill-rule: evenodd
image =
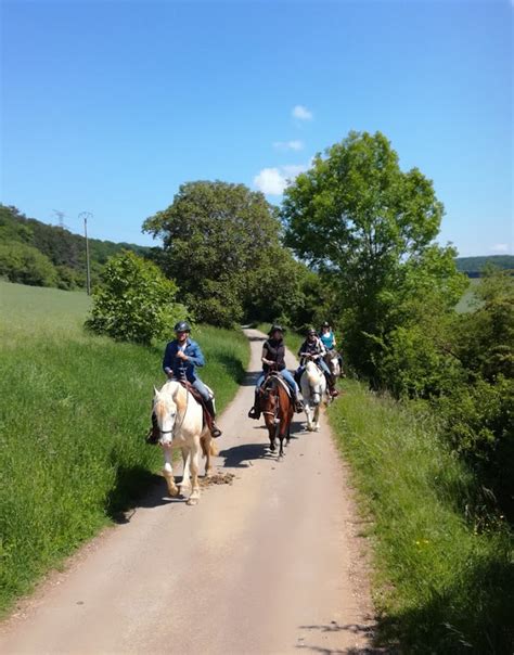
M 380 645 L 404 653 L 511 653 L 514 576 L 506 528 L 464 518 L 474 480 L 421 408 L 356 382 L 329 410 L 362 511 L 373 518 Z

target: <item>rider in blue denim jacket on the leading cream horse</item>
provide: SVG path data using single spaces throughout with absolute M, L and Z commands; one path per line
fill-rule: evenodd
M 210 434 L 217 438 L 221 431 L 215 423 L 215 409 L 208 388 L 200 380 L 195 367 L 203 367 L 204 356 L 196 342 L 190 338 L 191 326 L 187 321 L 178 322 L 175 328 L 177 338 L 166 346 L 163 358 L 163 370 L 168 378 L 188 381 L 202 396 L 204 404 L 213 418 Z

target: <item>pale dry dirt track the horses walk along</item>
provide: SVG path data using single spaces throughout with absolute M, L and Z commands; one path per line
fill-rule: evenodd
M 250 373 L 218 439 L 218 468 L 232 484 L 204 489 L 189 508 L 156 483 L 127 523 L 21 604 L 0 629 L 0 653 L 370 652 L 345 470 L 326 423 L 304 433 L 304 415 L 283 461 L 267 453 L 262 423 L 246 418 L 261 349 L 260 333 L 247 335 Z

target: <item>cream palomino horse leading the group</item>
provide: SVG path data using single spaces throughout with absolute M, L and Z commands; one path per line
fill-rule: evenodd
M 155 389 L 153 412 L 160 432 L 159 444 L 164 450 L 163 468 L 170 496 L 178 496 L 172 467 L 172 450 L 180 448 L 183 459 L 183 476 L 180 493 L 188 498 L 189 505 L 200 500 L 200 453 L 206 458 L 205 475 L 210 472 L 210 455 L 216 454 L 210 432 L 203 425 L 203 410 L 193 396 L 179 382 L 168 380 L 160 388 Z M 191 473 L 191 480 L 190 480 Z

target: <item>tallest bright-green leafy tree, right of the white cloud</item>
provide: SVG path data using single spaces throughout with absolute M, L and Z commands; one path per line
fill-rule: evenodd
M 337 288 L 350 359 L 377 383 L 390 334 L 419 321 L 412 299 L 437 290 L 449 308 L 461 293 L 453 249 L 434 243 L 442 214 L 380 132 L 350 132 L 285 191 L 286 243 Z

